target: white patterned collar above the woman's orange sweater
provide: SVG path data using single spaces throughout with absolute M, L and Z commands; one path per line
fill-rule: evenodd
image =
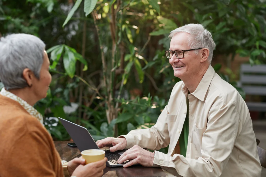
M 15 94 L 7 91 L 5 88 L 2 88 L 1 95 L 8 97 L 16 102 L 18 102 L 30 115 L 36 117 L 41 124 L 43 124 L 43 116 L 31 105 L 29 105 L 26 101 L 22 100 L 20 97 Z

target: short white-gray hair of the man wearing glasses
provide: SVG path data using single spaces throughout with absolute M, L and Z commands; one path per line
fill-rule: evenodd
M 215 49 L 215 43 L 213 41 L 213 36 L 211 35 L 211 33 L 207 29 L 205 29 L 203 25 L 190 23 L 176 28 L 170 32 L 169 38 L 174 37 L 179 32 L 187 32 L 191 35 L 191 37 L 188 39 L 188 46 L 191 49 L 209 49 L 210 55 L 208 61 L 211 63 L 211 60 L 213 59 L 213 50 Z M 198 50 L 195 50 L 194 53 L 198 54 Z

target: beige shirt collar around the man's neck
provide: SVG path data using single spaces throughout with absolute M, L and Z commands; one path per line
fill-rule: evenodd
M 205 72 L 204 76 L 202 77 L 198 87 L 192 93 L 192 95 L 194 97 L 198 98 L 201 101 L 204 101 L 205 95 L 206 95 L 207 90 L 210 86 L 211 80 L 213 79 L 214 74 L 215 74 L 215 71 L 214 71 L 213 67 L 211 67 L 211 65 L 210 65 L 209 68 L 207 69 L 207 71 Z M 185 86 L 184 83 L 181 87 L 181 90 L 187 96 L 188 88 Z

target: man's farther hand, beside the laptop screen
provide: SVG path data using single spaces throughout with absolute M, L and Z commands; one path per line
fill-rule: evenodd
M 123 137 L 121 138 L 112 138 L 108 137 L 103 140 L 98 140 L 96 141 L 96 144 L 98 145 L 99 148 L 103 148 L 105 146 L 113 146 L 110 147 L 111 152 L 115 152 L 117 150 L 123 150 L 127 146 L 127 140 Z

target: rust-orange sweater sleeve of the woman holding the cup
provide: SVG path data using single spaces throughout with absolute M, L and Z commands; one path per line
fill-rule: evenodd
M 4 156 L 5 159 L 2 159 L 4 164 L 1 165 L 6 169 L 4 174 L 12 177 L 56 177 L 57 169 L 54 169 L 54 166 L 60 161 L 54 161 L 51 137 L 41 124 L 29 126 L 35 126 L 34 130 L 27 130 L 18 139 L 13 140 L 14 143 Z

